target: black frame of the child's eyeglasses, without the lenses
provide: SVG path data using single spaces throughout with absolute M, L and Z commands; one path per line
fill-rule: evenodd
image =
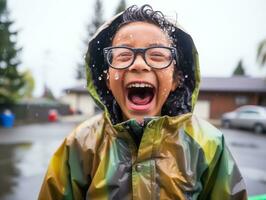
M 131 50 L 133 53 L 134 53 L 134 57 L 132 59 L 132 62 L 126 66 L 126 67 L 122 67 L 122 68 L 116 68 L 114 66 L 112 66 L 111 63 L 109 63 L 109 59 L 107 58 L 108 57 L 108 52 L 112 49 L 118 49 L 118 48 L 125 48 L 125 49 L 128 49 L 128 50 Z M 157 68 L 157 67 L 153 67 L 151 65 L 149 65 L 146 61 L 146 58 L 145 58 L 145 53 L 147 50 L 149 49 L 154 49 L 154 48 L 164 48 L 164 49 L 169 49 L 171 51 L 171 61 L 169 62 L 169 64 L 165 67 L 162 67 L 162 68 Z M 114 46 L 114 47 L 105 47 L 103 49 L 103 53 L 104 53 L 104 59 L 105 61 L 108 63 L 108 65 L 114 69 L 118 69 L 118 70 L 122 70 L 122 69 L 127 69 L 129 68 L 136 60 L 136 57 L 138 54 L 141 55 L 141 57 L 143 58 L 144 62 L 151 68 L 153 69 L 165 69 L 167 67 L 169 67 L 171 65 L 171 63 L 173 62 L 173 60 L 175 59 L 176 60 L 176 63 L 177 63 L 177 51 L 176 51 L 176 48 L 174 47 L 165 47 L 165 46 L 152 46 L 152 47 L 147 47 L 147 48 L 130 48 L 130 47 L 126 47 L 126 46 Z

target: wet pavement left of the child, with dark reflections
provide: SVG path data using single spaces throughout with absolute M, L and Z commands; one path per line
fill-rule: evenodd
M 53 152 L 73 122 L 0 128 L 0 199 L 37 199 Z

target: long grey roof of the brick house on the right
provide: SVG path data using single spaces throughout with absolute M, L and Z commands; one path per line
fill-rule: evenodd
M 203 77 L 200 91 L 266 93 L 266 79 L 246 76 Z

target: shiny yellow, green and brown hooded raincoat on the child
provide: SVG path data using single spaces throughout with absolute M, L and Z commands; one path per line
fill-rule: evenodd
M 175 25 L 183 84 L 160 117 L 143 125 L 123 121 L 104 77 L 103 48 L 122 16 L 104 24 L 89 43 L 88 90 L 103 110 L 78 126 L 51 159 L 39 194 L 49 199 L 246 199 L 243 178 L 222 133 L 192 114 L 199 91 L 194 43 Z

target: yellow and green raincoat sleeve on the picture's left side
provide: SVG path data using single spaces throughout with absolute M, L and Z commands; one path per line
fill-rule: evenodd
M 39 200 L 85 199 L 91 180 L 89 158 L 93 156 L 84 151 L 82 141 L 87 136 L 86 130 L 90 128 L 81 126 L 77 129 L 53 155 L 39 193 Z M 85 157 L 88 160 L 84 160 Z

